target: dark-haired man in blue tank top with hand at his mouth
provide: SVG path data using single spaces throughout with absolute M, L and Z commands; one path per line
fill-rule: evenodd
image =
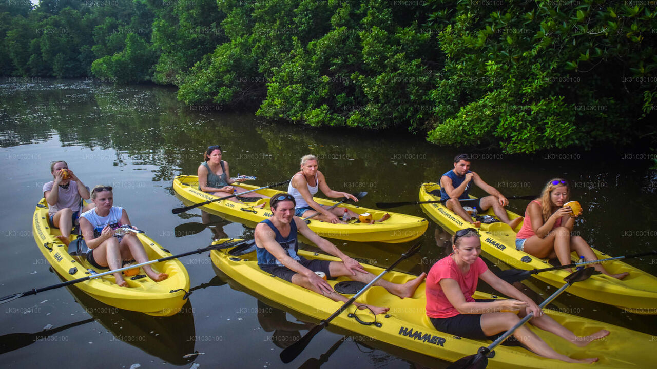
M 440 177 L 440 200 L 447 200 L 445 202 L 447 209 L 457 213 L 464 221 L 471 223 L 475 227 L 480 227 L 481 222 L 472 221 L 470 214 L 463 209 L 464 206 L 470 206 L 476 209 L 478 213 L 493 207 L 493 212 L 500 221 L 510 225 L 511 229 L 516 228 L 522 222 L 523 218 L 509 219 L 507 211 L 504 208 L 509 204 L 509 200 L 495 189 L 495 187 L 484 182 L 477 173 L 470 171 L 471 163 L 472 159 L 470 159 L 468 154 L 455 156 L 454 168 Z M 467 200 L 470 198 L 470 185 L 472 183 L 486 191 L 490 196 Z

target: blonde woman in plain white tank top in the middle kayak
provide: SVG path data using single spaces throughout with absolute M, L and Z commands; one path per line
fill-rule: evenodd
M 346 197 L 356 202 L 358 199 L 347 192 L 331 190 L 327 185 L 324 175 L 321 171 L 317 170 L 317 167 L 317 157 L 314 155 L 306 155 L 301 158 L 301 171 L 293 175 L 292 179 L 290 179 L 288 192 L 294 197 L 294 200 L 296 200 L 294 215 L 297 217 L 308 217 L 319 211 L 319 214 L 313 217 L 313 219 L 333 224 L 344 223 L 340 220 L 340 217 L 344 215 L 344 209 L 346 209 L 346 207 L 337 206 L 333 209 L 327 210 L 326 208 L 328 206 L 317 204 L 317 202 L 313 200 L 313 196 L 317 194 L 318 190 L 321 190 L 323 194 L 329 198 Z M 354 213 L 349 209 L 347 209 L 347 214 L 350 219 L 358 217 L 357 213 Z

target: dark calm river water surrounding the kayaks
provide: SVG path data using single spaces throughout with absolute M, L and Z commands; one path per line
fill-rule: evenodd
M 451 169 L 457 152 L 403 131 L 371 133 L 355 129 L 312 129 L 263 121 L 252 114 L 229 112 L 221 106 L 185 106 L 175 89 L 113 87 L 82 81 L 43 80 L 0 85 L 0 215 L 2 255 L 0 295 L 59 282 L 35 246 L 31 218 L 51 181 L 49 163 L 66 160 L 87 186 L 114 187 L 114 204 L 129 212 L 137 227 L 172 253 L 207 246 L 217 234 L 248 237 L 252 229 L 239 223 L 185 232 L 184 224 L 201 222 L 194 209 L 174 215 L 181 206 L 172 188 L 178 174 L 196 174 L 202 152 L 220 144 L 231 174 L 256 175 L 254 184 L 278 183 L 298 170 L 304 154 L 320 158 L 320 169 L 336 190 L 369 194 L 363 206 L 376 202 L 415 201 L 420 184 L 437 181 Z M 653 209 L 657 206 L 657 172 L 648 150 L 632 153 L 553 152 L 507 156 L 471 152 L 472 169 L 507 196 L 540 192 L 555 176 L 568 179 L 573 199 L 585 215 L 578 230 L 589 243 L 611 255 L 657 248 Z M 481 192 L 474 191 L 481 195 Z M 526 201 L 510 208 L 524 212 Z M 394 209 L 426 217 L 417 206 Z M 219 220 L 219 219 L 214 219 Z M 183 229 L 176 234 L 175 228 Z M 189 229 L 192 229 L 191 227 Z M 419 255 L 399 269 L 428 271 L 430 260 L 442 257 L 436 223 L 420 238 Z M 386 266 L 409 245 L 358 244 L 334 241 L 343 251 Z M 415 368 L 443 362 L 390 347 L 367 337 L 328 329 L 316 336 L 291 364 L 279 360 L 281 340 L 307 332 L 308 325 L 258 301 L 234 283 L 227 284 L 212 267 L 208 254 L 181 259 L 195 292 L 183 311 L 156 318 L 103 305 L 77 288 L 23 297 L 0 310 L 0 355 L 4 367 L 144 368 Z M 628 263 L 657 274 L 655 259 Z M 532 280 L 534 288 L 549 286 Z M 486 289 L 486 286 L 482 286 Z M 604 320 L 647 334 L 657 334 L 655 316 L 639 316 L 585 301 L 565 293 L 558 309 Z M 283 334 L 282 332 L 285 332 Z M 282 338 L 279 338 L 282 337 Z M 346 338 L 342 338 L 346 337 Z M 187 354 L 196 353 L 191 357 Z M 321 362 L 313 360 L 320 358 Z M 198 364 L 198 366 L 195 366 Z

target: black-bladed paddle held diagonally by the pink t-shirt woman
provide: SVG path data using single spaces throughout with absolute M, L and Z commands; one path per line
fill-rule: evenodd
M 588 267 L 585 269 L 580 269 L 579 271 L 572 272 L 569 274 L 566 278 L 564 278 L 564 281 L 566 284 L 561 286 L 558 290 L 556 290 L 555 293 L 553 293 L 550 297 L 545 299 L 541 303 L 541 305 L 538 305 L 539 308 L 543 309 L 546 305 L 552 302 L 553 299 L 556 299 L 558 295 L 560 295 L 566 288 L 570 287 L 572 284 L 575 282 L 581 282 L 582 280 L 588 279 L 591 274 L 595 272 L 595 268 L 593 267 Z M 479 352 L 476 353 L 475 355 L 470 355 L 467 357 L 460 358 L 454 364 L 451 364 L 450 366 L 447 366 L 447 369 L 484 369 L 486 368 L 488 364 L 488 358 L 487 355 L 491 352 L 491 350 L 505 341 L 505 339 L 509 338 L 515 332 L 516 329 L 518 329 L 522 324 L 525 324 L 528 320 L 530 320 L 533 316 L 533 311 L 530 312 L 528 315 L 525 315 L 524 318 L 520 319 L 520 322 L 518 322 L 515 326 L 512 326 L 510 330 L 507 330 L 502 336 L 499 336 L 499 338 L 495 339 L 493 343 L 488 345 L 488 347 L 480 347 Z

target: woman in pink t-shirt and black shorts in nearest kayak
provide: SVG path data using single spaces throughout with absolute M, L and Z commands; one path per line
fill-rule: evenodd
M 479 258 L 482 244 L 474 228 L 459 230 L 452 240 L 453 253 L 434 264 L 426 277 L 426 315 L 441 332 L 470 339 L 495 339 L 533 312 L 530 324 L 584 347 L 595 339 L 609 334 L 600 330 L 591 336 L 576 336 L 550 316 L 543 315 L 539 307 L 524 293 L 501 280 L 489 271 Z M 512 299 L 475 300 L 472 294 L 478 279 Z M 519 311 L 516 315 L 513 311 Z M 575 359 L 557 353 L 543 339 L 526 326 L 513 333 L 520 343 L 534 353 L 565 362 L 596 362 L 597 358 Z

